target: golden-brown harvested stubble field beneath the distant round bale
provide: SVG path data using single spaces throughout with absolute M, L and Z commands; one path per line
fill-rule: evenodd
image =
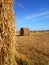
M 30 32 L 30 36 L 17 35 L 19 53 L 24 54 L 30 65 L 49 65 L 49 32 Z

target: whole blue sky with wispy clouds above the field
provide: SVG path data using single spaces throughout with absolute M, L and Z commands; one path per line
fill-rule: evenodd
M 16 27 L 49 30 L 49 0 L 15 0 Z

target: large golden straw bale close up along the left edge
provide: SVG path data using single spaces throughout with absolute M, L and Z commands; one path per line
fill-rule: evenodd
M 0 0 L 0 65 L 17 65 L 15 44 L 13 0 Z

